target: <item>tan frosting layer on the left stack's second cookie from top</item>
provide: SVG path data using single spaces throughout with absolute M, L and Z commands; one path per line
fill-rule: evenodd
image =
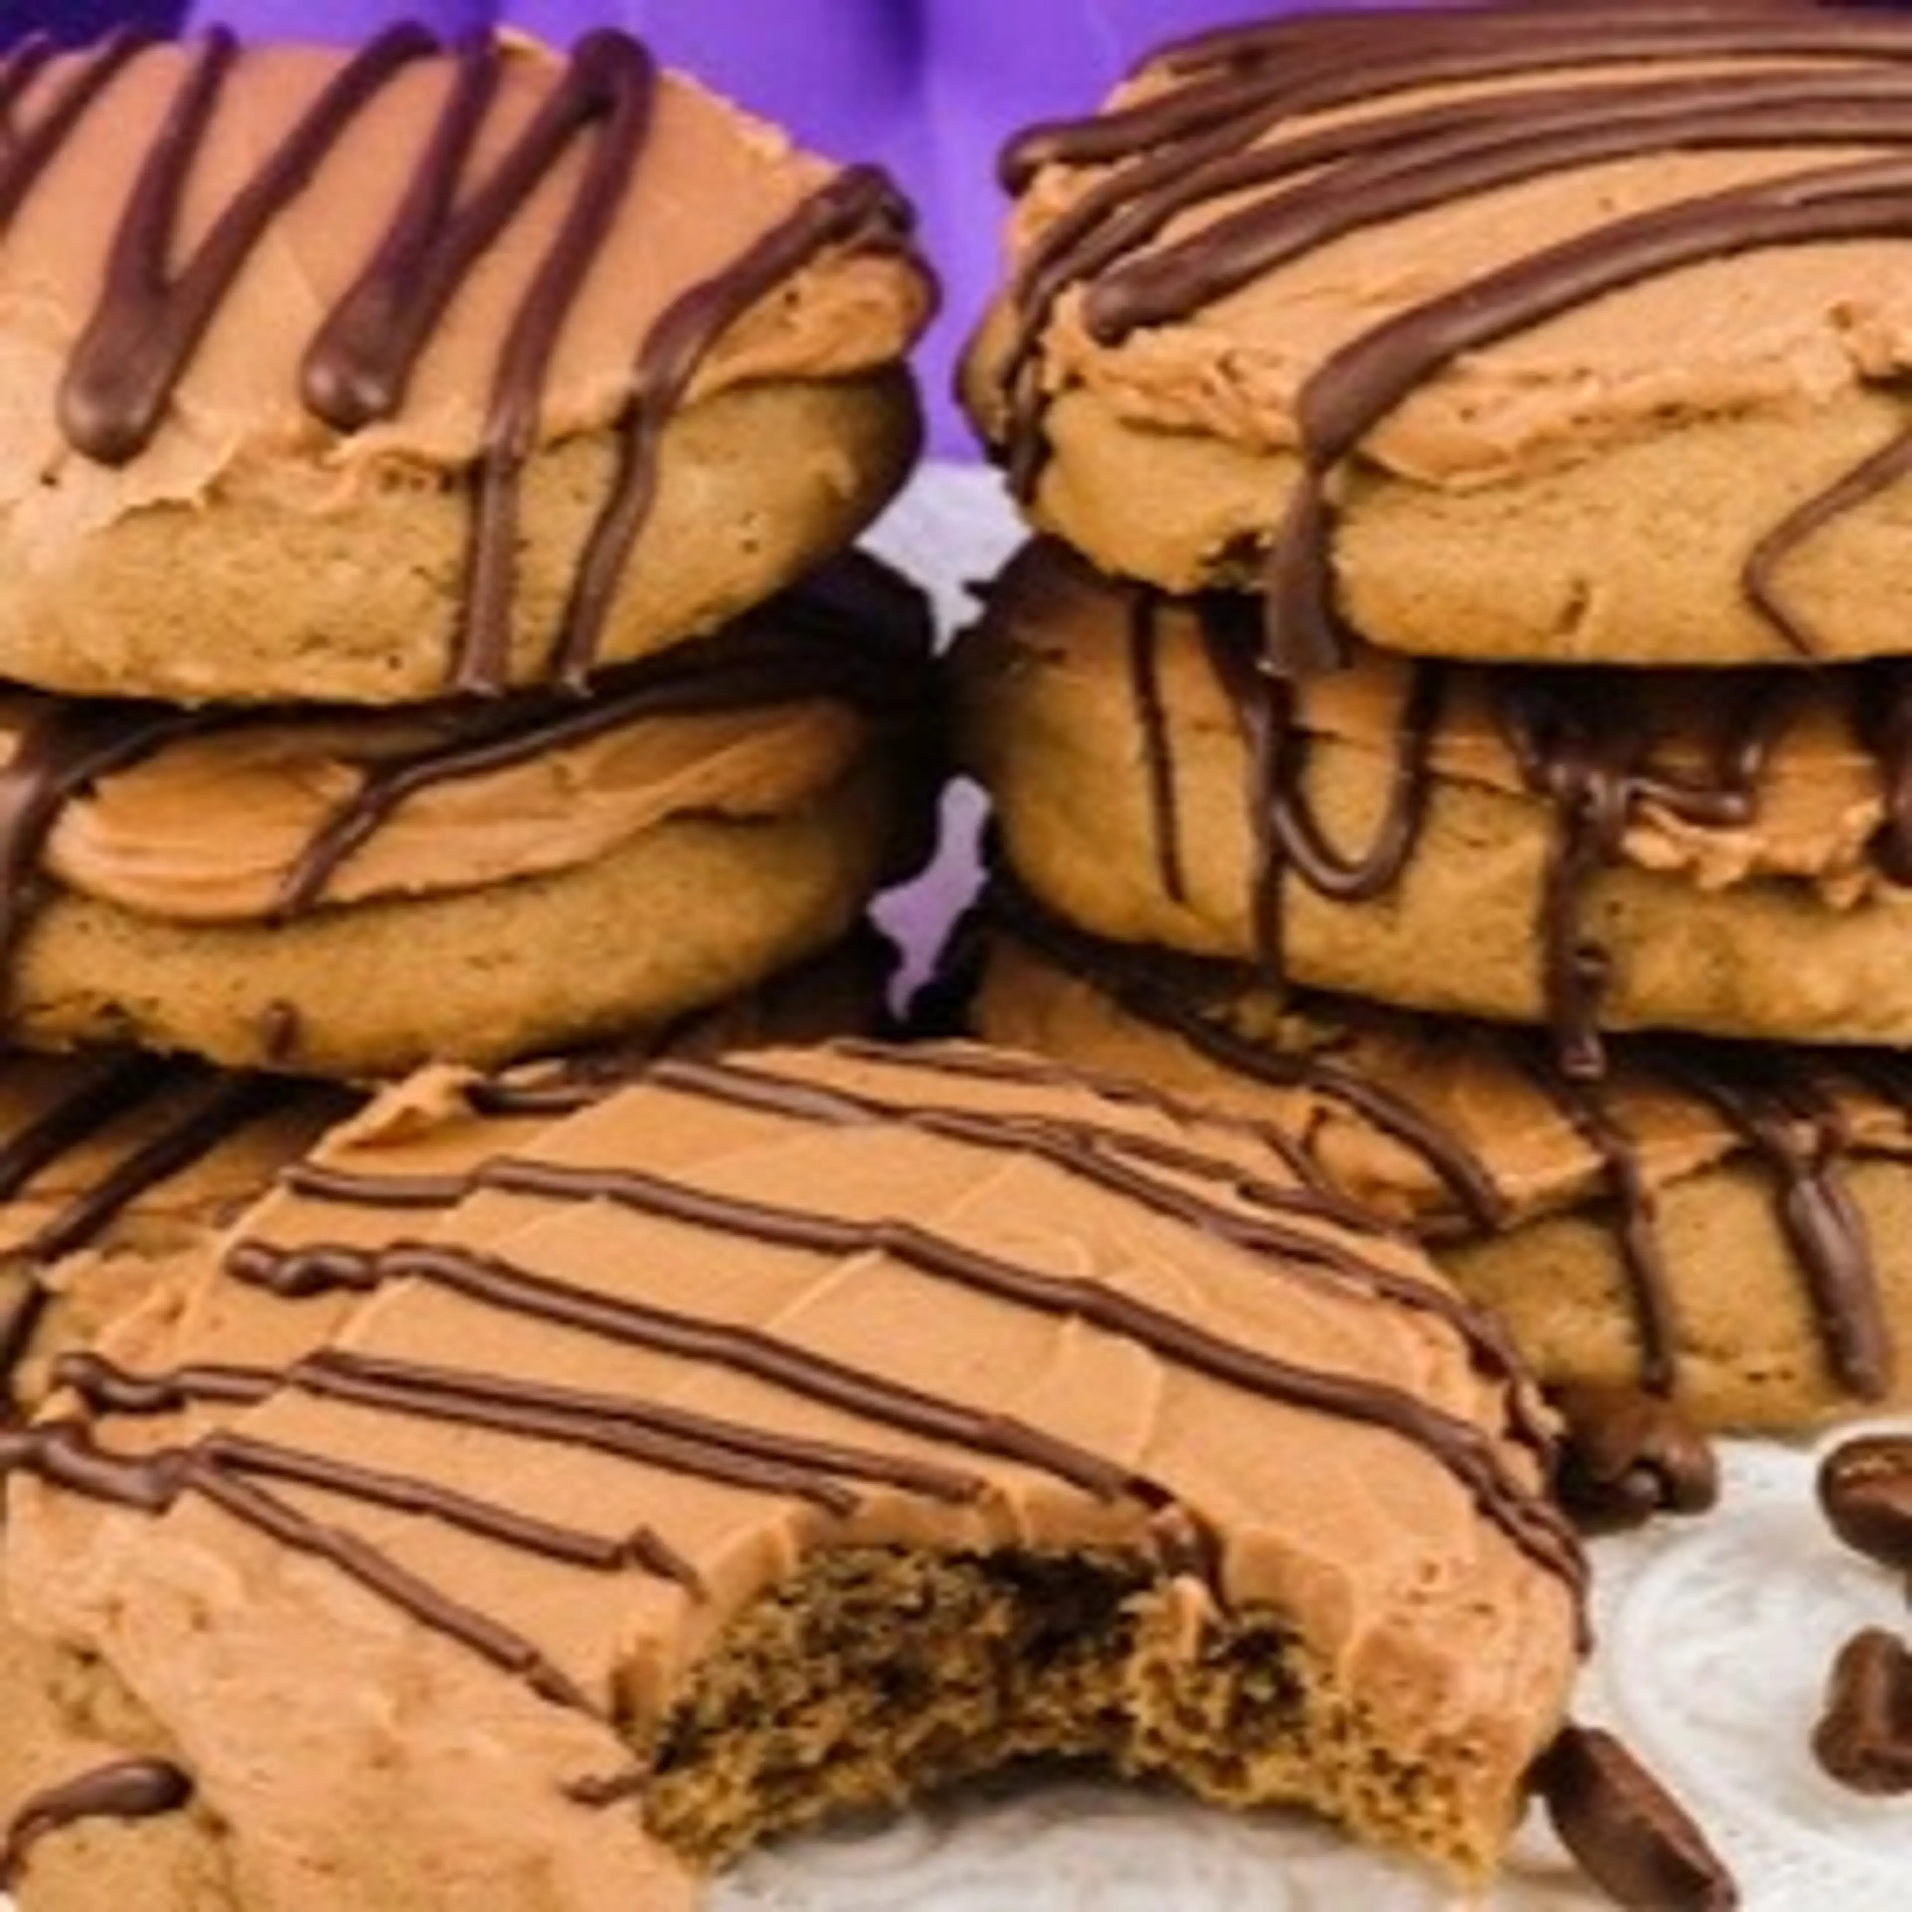
M 0 698 L 0 868 L 176 922 L 474 889 L 606 855 L 673 816 L 750 820 L 839 784 L 920 725 L 929 618 L 874 562 L 589 700 L 405 711 L 166 711 Z

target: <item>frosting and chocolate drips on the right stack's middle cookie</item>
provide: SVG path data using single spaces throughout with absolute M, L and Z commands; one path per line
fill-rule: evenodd
M 1013 677 L 1023 658 L 1126 683 L 1168 895 L 1180 885 L 1178 753 L 1245 755 L 1271 971 L 1283 885 L 1386 897 L 1444 780 L 1553 813 L 1539 943 L 1556 1046 L 1577 1075 L 1600 1069 L 1600 977 L 1579 902 L 1602 866 L 1702 889 L 1795 880 L 1834 910 L 1912 876 L 1912 669 L 1899 662 L 1738 671 L 1723 684 L 1717 673 L 1468 669 L 1358 650 L 1346 669 L 1283 684 L 1256 667 L 1258 642 L 1249 604 L 1113 583 L 1038 541 L 990 591 L 967 648 L 983 673 Z M 1109 658 L 1124 650 L 1120 679 Z M 1371 834 L 1358 845 L 1331 843 L 1310 801 L 1308 753 L 1327 738 L 1375 759 Z

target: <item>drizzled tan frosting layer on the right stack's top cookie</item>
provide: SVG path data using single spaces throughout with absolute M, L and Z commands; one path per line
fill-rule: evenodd
M 1317 665 L 1350 459 L 1482 486 L 1901 377 L 1908 140 L 1912 27 L 1864 6 L 1459 0 L 1170 48 L 1010 147 L 1011 317 L 977 407 L 1025 488 L 1076 388 L 1294 453 L 1270 639 Z M 1906 461 L 1889 442 L 1751 553 L 1788 642 L 1813 633 L 1772 572 Z

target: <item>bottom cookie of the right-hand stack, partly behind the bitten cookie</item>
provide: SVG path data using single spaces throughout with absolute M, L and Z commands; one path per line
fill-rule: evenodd
M 1912 1057 L 1614 1042 L 1600 1082 L 1533 1032 L 1097 941 L 1000 893 L 971 1008 L 996 1042 L 1300 1138 L 1411 1229 L 1539 1379 L 1709 1428 L 1912 1407 Z

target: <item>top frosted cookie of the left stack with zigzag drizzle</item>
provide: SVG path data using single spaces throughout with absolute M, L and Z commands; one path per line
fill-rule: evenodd
M 29 42 L 0 99 L 0 677 L 576 683 L 790 583 L 914 455 L 889 182 L 625 34 Z

